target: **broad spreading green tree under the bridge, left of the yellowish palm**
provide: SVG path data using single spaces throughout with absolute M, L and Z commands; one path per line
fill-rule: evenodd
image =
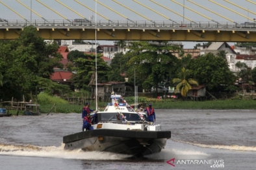
M 168 82 L 170 74 L 175 72 L 175 65 L 179 61 L 170 51 L 179 50 L 181 50 L 180 47 L 168 45 L 167 41 L 133 41 L 130 52 L 125 54 L 125 56 L 132 56 L 127 73 L 133 81 L 135 69 L 136 83 L 142 85 L 144 89 L 149 87 L 149 82 L 157 87 L 162 81 Z

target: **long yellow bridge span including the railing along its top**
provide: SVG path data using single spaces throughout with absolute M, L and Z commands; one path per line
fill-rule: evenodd
M 44 39 L 166 40 L 253 42 L 256 23 L 181 21 L 10 20 L 0 23 L 0 39 L 14 39 L 27 26 L 34 26 Z

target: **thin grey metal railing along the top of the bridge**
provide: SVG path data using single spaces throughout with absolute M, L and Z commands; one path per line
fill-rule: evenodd
M 55 19 L 55 20 L 6 20 L 0 21 L 1 27 L 14 27 L 21 26 L 26 27 L 32 25 L 36 26 L 99 26 L 99 27 L 194 27 L 194 28 L 256 28 L 256 23 L 244 22 L 244 23 L 231 23 L 231 22 L 213 22 L 213 21 L 129 21 L 129 20 L 98 20 L 88 21 L 85 19 Z

